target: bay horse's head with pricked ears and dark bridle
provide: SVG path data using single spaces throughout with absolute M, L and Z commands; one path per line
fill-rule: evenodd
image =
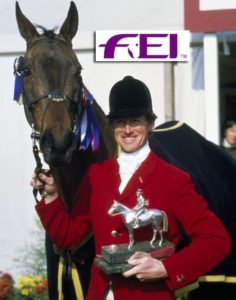
M 48 164 L 71 159 L 77 146 L 75 124 L 81 112 L 81 65 L 72 50 L 78 28 L 78 12 L 71 2 L 59 31 L 36 27 L 23 15 L 16 2 L 19 31 L 27 50 L 18 66 L 22 80 L 27 120 L 39 133 L 40 149 Z

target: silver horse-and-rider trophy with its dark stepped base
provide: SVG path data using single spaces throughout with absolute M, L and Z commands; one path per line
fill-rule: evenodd
M 174 246 L 164 238 L 168 231 L 168 219 L 164 211 L 148 209 L 148 201 L 144 199 L 142 190 L 136 192 L 137 204 L 128 208 L 124 204 L 114 201 L 108 211 L 110 216 L 120 215 L 129 232 L 129 244 L 114 244 L 102 247 L 102 257 L 96 258 L 95 263 L 106 274 L 121 273 L 132 266 L 127 263 L 129 257 L 135 252 L 155 253 L 155 258 L 163 259 L 174 252 Z M 134 230 L 140 227 L 152 226 L 151 241 L 135 242 Z M 157 240 L 157 233 L 160 239 Z

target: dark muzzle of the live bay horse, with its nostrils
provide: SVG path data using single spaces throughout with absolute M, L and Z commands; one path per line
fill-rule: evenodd
M 47 164 L 60 166 L 70 162 L 77 148 L 77 139 L 73 132 L 57 139 L 50 131 L 43 132 L 39 140 L 40 150 Z

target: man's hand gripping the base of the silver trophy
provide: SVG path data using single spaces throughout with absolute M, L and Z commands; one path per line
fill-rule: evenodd
M 128 263 L 134 267 L 123 273 L 125 277 L 136 276 L 140 281 L 153 281 L 167 277 L 163 263 L 149 253 L 136 252 L 128 259 Z

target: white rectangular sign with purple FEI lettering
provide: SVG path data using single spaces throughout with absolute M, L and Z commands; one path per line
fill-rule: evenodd
M 96 31 L 96 61 L 189 61 L 190 33 Z

